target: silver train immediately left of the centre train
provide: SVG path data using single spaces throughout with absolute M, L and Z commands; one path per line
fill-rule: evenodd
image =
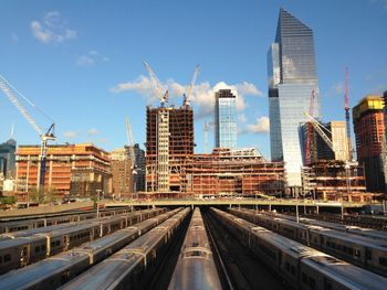
M 163 253 L 189 211 L 175 214 L 61 289 L 147 289 L 144 280 L 148 271 L 164 258 Z

